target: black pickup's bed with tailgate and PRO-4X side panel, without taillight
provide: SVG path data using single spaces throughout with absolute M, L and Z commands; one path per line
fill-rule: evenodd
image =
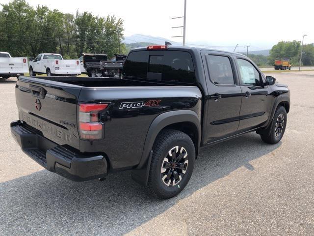
M 202 93 L 196 86 L 119 78 L 21 76 L 15 94 L 19 119 L 27 127 L 59 146 L 79 153 L 101 153 L 111 170 L 139 164 L 146 133 L 159 114 L 192 110 L 201 116 Z M 82 139 L 80 104 L 104 103 L 109 104 L 101 116 L 104 139 Z

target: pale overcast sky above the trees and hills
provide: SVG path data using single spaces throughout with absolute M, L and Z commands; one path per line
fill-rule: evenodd
M 114 14 L 124 20 L 126 36 L 141 33 L 171 39 L 182 34 L 182 29 L 171 27 L 182 25 L 183 20 L 171 18 L 183 15 L 184 0 L 26 1 L 74 14 L 77 10 L 99 16 Z M 308 34 L 304 43 L 314 43 L 313 7 L 312 0 L 187 0 L 186 41 L 230 48 L 238 43 L 240 51 L 244 45 L 262 50 L 281 40 L 302 40 L 302 34 Z

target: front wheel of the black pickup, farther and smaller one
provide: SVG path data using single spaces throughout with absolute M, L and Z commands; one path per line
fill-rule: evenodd
M 269 128 L 261 134 L 262 141 L 267 144 L 277 144 L 284 136 L 287 125 L 287 112 L 283 106 L 279 106 Z

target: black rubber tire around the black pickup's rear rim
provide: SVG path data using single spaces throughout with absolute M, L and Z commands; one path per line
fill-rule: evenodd
M 171 151 L 173 148 L 176 148 L 177 146 L 180 149 L 184 148 L 186 150 L 187 156 L 184 160 L 188 160 L 188 163 L 185 164 L 187 166 L 184 174 L 182 170 L 173 169 L 173 172 L 177 171 L 176 173 L 179 173 L 179 176 L 182 176 L 182 178 L 178 180 L 178 183 L 171 182 L 170 185 L 174 184 L 173 186 L 167 186 L 164 182 L 165 180 L 162 179 L 162 176 L 164 177 L 166 175 L 162 173 L 162 166 L 164 165 L 164 158 L 169 155 L 169 151 Z M 176 157 L 178 157 L 178 155 L 180 156 L 180 154 L 180 150 L 179 152 L 175 153 Z M 150 191 L 161 199 L 168 199 L 178 195 L 183 190 L 192 175 L 194 162 L 195 146 L 191 138 L 187 134 L 178 130 L 162 130 L 158 134 L 153 146 L 153 155 L 148 178 L 148 187 Z

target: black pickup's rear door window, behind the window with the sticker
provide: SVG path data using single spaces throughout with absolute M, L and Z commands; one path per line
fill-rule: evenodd
M 234 85 L 234 75 L 231 62 L 228 57 L 207 55 L 207 66 L 209 77 L 215 85 Z

